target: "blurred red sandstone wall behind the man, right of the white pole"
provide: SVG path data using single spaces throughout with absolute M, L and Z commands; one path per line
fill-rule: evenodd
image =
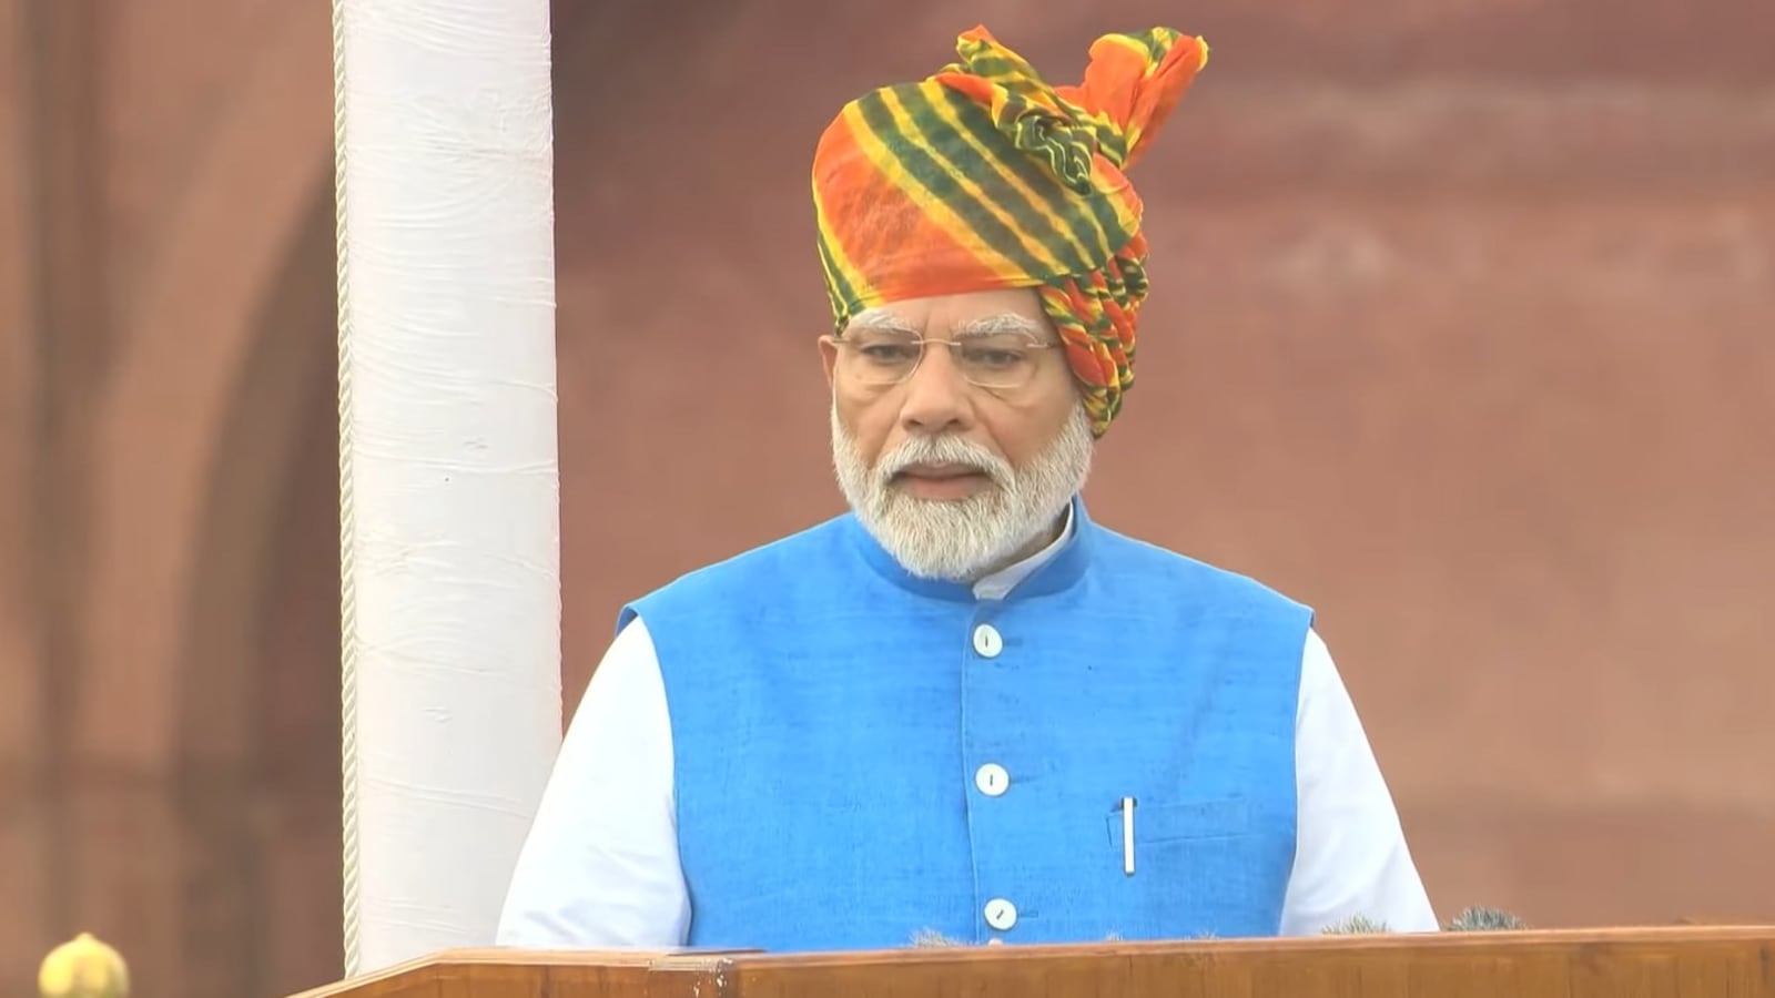
M 1111 23 L 1212 43 L 1136 170 L 1156 291 L 1090 501 L 1321 609 L 1436 900 L 1775 915 L 1775 9 L 978 14 L 1054 76 Z M 563 51 L 572 685 L 618 600 L 838 508 L 806 162 L 960 16 Z

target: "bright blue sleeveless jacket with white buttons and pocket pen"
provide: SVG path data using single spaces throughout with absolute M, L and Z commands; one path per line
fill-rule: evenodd
M 666 682 L 692 947 L 1278 932 L 1312 613 L 1074 524 L 1003 600 L 845 515 L 623 609 Z

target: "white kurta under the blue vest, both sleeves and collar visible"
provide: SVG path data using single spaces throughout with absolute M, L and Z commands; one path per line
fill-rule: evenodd
M 1070 538 L 974 584 L 1003 598 Z M 1351 916 L 1438 929 L 1399 813 L 1326 643 L 1308 632 L 1296 714 L 1298 840 L 1283 936 Z M 499 945 L 673 948 L 690 899 L 678 865 L 666 685 L 646 622 L 605 652 L 561 746 L 499 922 Z M 843 844 L 834 844 L 841 849 Z

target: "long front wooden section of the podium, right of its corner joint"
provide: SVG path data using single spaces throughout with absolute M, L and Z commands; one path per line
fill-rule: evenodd
M 740 957 L 737 998 L 1763 998 L 1775 927 Z M 589 994 L 589 993 L 588 993 Z

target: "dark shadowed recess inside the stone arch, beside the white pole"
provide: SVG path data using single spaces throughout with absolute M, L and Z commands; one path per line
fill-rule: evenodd
M 320 192 L 257 309 L 192 552 L 174 780 L 186 939 L 240 954 L 206 968 L 217 994 L 339 971 L 332 247 Z

